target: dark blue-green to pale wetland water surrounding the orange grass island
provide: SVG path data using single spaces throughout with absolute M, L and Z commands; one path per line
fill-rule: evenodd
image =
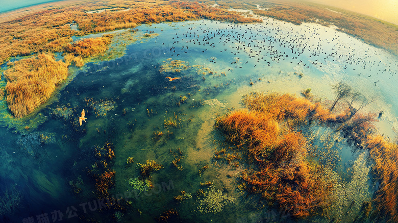
M 311 88 L 322 99 L 334 100 L 331 84 L 344 81 L 365 96 L 380 95 L 366 109 L 383 110 L 380 131 L 395 137 L 397 58 L 333 28 L 273 19 L 247 25 L 199 20 L 137 28 L 140 35 L 159 35 L 127 45 L 126 55 L 116 60 L 86 64 L 58 100 L 42 109 L 47 119 L 36 130 L 24 135 L 0 131 L 3 187 L 15 187 L 23 196 L 11 216 L 14 222 L 28 217 L 36 222 L 44 213 L 50 220 L 52 213 L 62 213 L 62 220 L 56 220 L 64 222 L 78 222 L 79 216 L 108 222 L 104 212 L 112 213 L 98 208 L 101 202 L 92 192 L 95 181 L 87 176 L 97 165 L 95 145 L 107 141 L 115 146 L 109 165 L 116 171 L 109 195 L 133 197 L 126 211 L 114 211 L 120 222 L 155 222 L 170 208 L 184 222 L 293 221 L 276 207 L 260 207 L 258 196 L 239 191 L 234 175 L 241 167 L 212 161 L 218 146 L 214 140 L 222 137 L 213 130 L 214 118 L 228 108 L 241 108 L 240 97 L 250 91 L 300 94 Z M 181 79 L 168 81 L 167 76 Z M 80 127 L 76 123 L 82 109 L 87 123 Z M 178 128 L 166 128 L 169 119 L 179 122 Z M 164 135 L 154 139 L 157 131 Z M 369 180 L 368 154 L 352 151 L 328 128 L 303 133 L 314 143 L 310 152 L 317 154 L 316 162 L 330 167 L 328 174 L 337 182 L 329 217 L 354 221 L 377 188 L 377 182 Z M 182 170 L 171 164 L 179 150 Z M 128 157 L 134 157 L 129 166 Z M 139 176 L 137 163 L 146 160 L 164 168 L 151 175 L 153 190 L 137 192 L 129 180 Z M 206 181 L 215 188 L 200 185 Z M 78 195 L 70 182 L 80 185 Z M 213 195 L 206 201 L 195 199 L 198 189 Z M 193 198 L 177 203 L 173 197 L 180 191 Z

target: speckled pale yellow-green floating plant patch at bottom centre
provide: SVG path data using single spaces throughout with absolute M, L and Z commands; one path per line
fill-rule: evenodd
M 211 187 L 203 192 L 203 195 L 197 197 L 198 204 L 197 211 L 204 213 L 218 213 L 221 212 L 225 206 L 233 204 L 235 197 L 223 193 L 221 190 L 216 190 Z

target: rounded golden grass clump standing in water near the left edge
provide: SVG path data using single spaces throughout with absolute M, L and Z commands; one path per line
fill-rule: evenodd
M 16 61 L 4 71 L 4 76 L 8 80 L 8 107 L 15 117 L 21 118 L 48 100 L 56 86 L 67 78 L 68 67 L 51 55 L 39 54 Z

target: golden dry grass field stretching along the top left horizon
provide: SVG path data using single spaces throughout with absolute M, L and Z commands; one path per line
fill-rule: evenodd
M 3 18 L 0 23 L 0 63 L 9 57 L 27 56 L 38 52 L 61 52 L 71 36 L 134 28 L 142 23 L 184 21 L 209 18 L 234 22 L 255 22 L 225 9 L 216 9 L 194 2 L 142 1 L 65 1 L 57 7 L 34 10 L 32 14 Z M 90 10 L 107 9 L 101 13 Z M 112 9 L 112 10 L 111 10 Z M 127 10 L 129 9 L 129 10 Z M 71 30 L 74 21 L 79 31 Z M 82 56 L 82 55 L 81 55 Z

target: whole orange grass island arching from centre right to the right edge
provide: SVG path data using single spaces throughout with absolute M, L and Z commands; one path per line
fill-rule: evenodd
M 243 95 L 242 102 L 245 109 L 218 116 L 214 124 L 226 143 L 214 159 L 225 158 L 230 165 L 230 158 L 244 163 L 238 176 L 242 190 L 260 194 L 295 218 L 325 214 L 332 202 L 334 181 L 327 177 L 324 165 L 307 159 L 312 144 L 302 131 L 311 125 L 326 125 L 355 139 L 359 149 L 370 151 L 375 176 L 381 181 L 375 198 L 377 210 L 396 221 L 397 144 L 369 130 L 375 119 L 364 114 L 347 117 L 346 111 L 335 115 L 319 103 L 290 94 L 252 92 Z M 358 119 L 363 120 L 360 125 Z M 341 128 L 353 125 L 355 128 Z

